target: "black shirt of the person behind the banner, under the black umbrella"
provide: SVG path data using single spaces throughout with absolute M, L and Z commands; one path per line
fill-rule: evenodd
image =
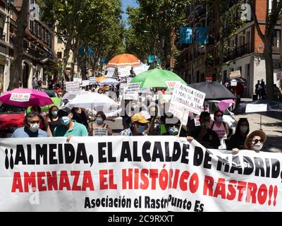
M 218 149 L 221 145 L 219 141 L 219 136 L 212 129 L 207 129 L 207 134 L 203 136 L 202 140 L 200 138 L 201 127 L 198 126 L 190 132 L 190 136 L 198 141 L 204 146 L 204 148 L 214 148 Z

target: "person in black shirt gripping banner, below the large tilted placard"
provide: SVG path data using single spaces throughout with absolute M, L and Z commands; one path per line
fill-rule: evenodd
M 195 138 L 196 141 L 201 143 L 205 148 L 218 149 L 221 145 L 219 136 L 215 131 L 209 129 L 211 117 L 209 112 L 202 112 L 200 114 L 200 128 L 196 127 L 189 133 L 187 137 L 188 141 L 192 141 Z

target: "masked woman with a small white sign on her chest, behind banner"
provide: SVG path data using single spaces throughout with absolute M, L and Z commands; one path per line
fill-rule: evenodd
M 111 127 L 104 123 L 106 115 L 104 112 L 97 112 L 96 121 L 93 124 L 93 136 L 112 136 Z

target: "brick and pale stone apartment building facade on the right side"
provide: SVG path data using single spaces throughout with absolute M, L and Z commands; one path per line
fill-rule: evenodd
M 255 1 L 255 11 L 259 25 L 264 30 L 266 18 L 266 0 Z M 271 2 L 271 1 L 269 1 Z M 222 44 L 219 40 L 219 27 L 216 23 L 216 15 L 201 1 L 188 6 L 187 21 L 191 28 L 194 26 L 206 26 L 208 28 L 208 44 L 182 44 L 179 63 L 179 75 L 188 83 L 205 81 L 212 77 L 214 81 L 225 82 L 231 71 L 240 71 L 245 79 L 245 97 L 252 97 L 257 80 L 266 81 L 265 61 L 263 57 L 264 44 L 260 39 L 252 19 L 250 7 L 243 4 L 245 9 L 245 25 L 238 30 L 235 37 L 226 44 L 230 51 L 222 58 L 217 46 Z M 271 3 L 269 3 L 271 8 Z M 237 19 L 242 15 L 237 15 Z M 236 17 L 236 15 L 235 15 Z M 228 21 L 226 21 L 227 25 Z M 228 32 L 228 26 L 226 26 Z M 194 54 L 193 54 L 194 52 Z M 274 30 L 273 58 L 274 58 L 274 81 L 279 71 L 279 58 L 281 54 L 281 24 L 277 24 Z M 221 59 L 223 59 L 221 61 Z M 220 73 L 219 73 L 220 72 Z M 221 74 L 219 78 L 218 74 Z

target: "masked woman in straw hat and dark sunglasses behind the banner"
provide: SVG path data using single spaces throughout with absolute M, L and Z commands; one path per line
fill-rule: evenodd
M 264 143 L 266 141 L 266 133 L 262 130 L 256 130 L 250 133 L 246 140 L 245 140 L 245 145 L 244 149 L 246 150 L 255 150 L 255 152 L 262 151 L 262 148 L 264 146 Z M 238 153 L 238 149 L 233 150 L 233 154 Z

